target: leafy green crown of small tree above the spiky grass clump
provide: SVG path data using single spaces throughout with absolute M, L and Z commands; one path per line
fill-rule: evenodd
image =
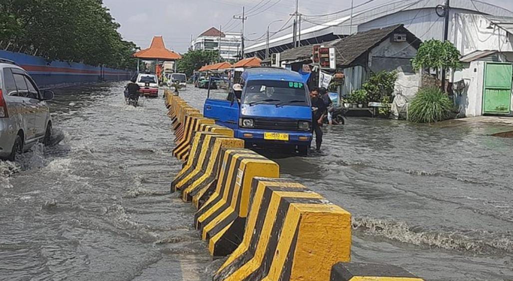
M 420 45 L 417 55 L 411 59 L 413 69 L 454 69 L 460 70 L 460 51 L 449 41 L 431 39 Z

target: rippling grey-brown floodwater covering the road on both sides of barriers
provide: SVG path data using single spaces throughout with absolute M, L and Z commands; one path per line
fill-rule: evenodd
M 219 267 L 194 208 L 169 193 L 181 164 L 162 97 L 134 109 L 122 87 L 58 90 L 65 140 L 0 164 L 0 279 L 207 280 Z M 180 95 L 202 107 L 206 91 Z M 513 139 L 488 136 L 503 131 L 349 118 L 325 128 L 321 155 L 271 158 L 351 212 L 353 261 L 426 280 L 510 280 Z

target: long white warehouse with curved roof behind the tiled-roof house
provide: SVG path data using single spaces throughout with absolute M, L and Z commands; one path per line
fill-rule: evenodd
M 308 19 L 316 24 L 301 30 L 301 44 L 312 45 L 324 41 L 348 36 L 350 33 L 403 24 L 422 41 L 443 39 L 444 17 L 439 16 L 445 0 L 401 0 L 368 9 L 355 9 L 352 20 L 349 11 L 340 18 L 323 22 L 321 18 Z M 438 10 L 438 14 L 437 14 Z M 513 16 L 505 8 L 479 0 L 451 0 L 449 18 L 454 23 L 457 14 L 482 14 L 494 16 Z M 352 23 L 352 26 L 351 26 Z M 453 28 L 449 26 L 449 34 Z M 269 41 L 270 53 L 283 52 L 292 48 L 292 33 Z M 449 40 L 452 40 L 449 36 Z M 247 57 L 265 57 L 266 42 L 262 40 L 245 48 Z

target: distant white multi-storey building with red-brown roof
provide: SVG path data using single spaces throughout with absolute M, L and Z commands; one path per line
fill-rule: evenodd
M 240 33 L 221 32 L 212 27 L 203 32 L 192 42 L 193 50 L 220 50 L 225 60 L 238 59 L 241 52 L 242 37 Z

